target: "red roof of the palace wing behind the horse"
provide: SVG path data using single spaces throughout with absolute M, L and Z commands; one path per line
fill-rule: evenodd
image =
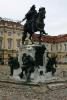
M 33 35 L 33 40 L 38 41 L 39 34 Z M 58 35 L 58 36 L 50 36 L 50 35 L 43 35 L 42 41 L 47 43 L 60 43 L 67 41 L 67 34 Z

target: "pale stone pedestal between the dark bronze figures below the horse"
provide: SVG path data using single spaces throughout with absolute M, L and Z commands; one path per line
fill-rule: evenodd
M 36 46 L 40 46 L 40 45 L 39 44 L 23 45 L 19 49 L 18 61 L 21 67 L 23 67 L 22 56 L 24 53 L 32 56 L 33 59 L 35 60 L 35 47 Z M 43 66 L 39 66 L 39 68 L 35 66 L 35 71 L 30 76 L 32 82 L 35 82 L 35 83 L 42 82 L 43 83 L 46 80 L 48 81 L 52 79 L 51 72 L 46 73 L 46 68 L 45 68 L 46 64 L 47 64 L 47 57 L 46 57 L 46 52 L 45 52 L 43 56 Z M 21 67 L 18 70 L 14 71 L 13 77 L 22 81 L 23 79 L 20 79 L 18 76 L 19 73 L 21 73 Z M 26 81 L 26 78 L 24 80 Z

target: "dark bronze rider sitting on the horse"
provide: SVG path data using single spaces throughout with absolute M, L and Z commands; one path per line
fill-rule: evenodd
M 31 24 L 31 29 L 33 33 L 34 33 L 36 17 L 37 17 L 37 11 L 35 10 L 35 5 L 33 5 L 28 11 L 28 13 L 25 15 L 25 18 L 22 20 L 22 21 L 26 20 L 28 27 Z

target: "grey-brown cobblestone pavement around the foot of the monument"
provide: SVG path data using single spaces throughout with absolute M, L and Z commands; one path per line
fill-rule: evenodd
M 8 66 L 0 66 L 0 80 L 10 80 L 9 74 Z M 0 82 L 0 100 L 67 100 L 67 83 L 33 86 Z

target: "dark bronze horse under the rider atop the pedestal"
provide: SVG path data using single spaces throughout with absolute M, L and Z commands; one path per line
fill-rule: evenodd
M 42 34 L 46 34 L 45 31 L 44 31 L 45 13 L 46 13 L 46 11 L 45 11 L 44 7 L 42 7 L 42 8 L 39 9 L 39 12 L 37 13 L 37 17 L 35 19 L 34 26 L 33 26 L 34 32 L 37 32 L 37 31 L 40 32 L 39 42 L 41 42 L 41 36 L 42 36 Z M 24 25 L 24 32 L 23 32 L 23 37 L 22 37 L 22 44 L 24 44 L 24 41 L 25 41 L 25 39 L 27 37 L 27 33 L 30 34 L 29 39 L 32 41 L 31 38 L 32 38 L 32 35 L 34 34 L 32 30 L 33 29 L 32 29 L 31 23 L 30 22 L 29 23 L 26 22 L 25 25 Z

